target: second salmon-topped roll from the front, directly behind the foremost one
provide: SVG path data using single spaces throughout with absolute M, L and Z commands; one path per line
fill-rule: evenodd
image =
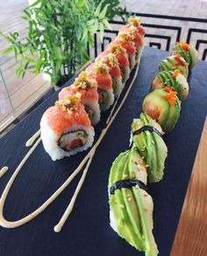
M 100 121 L 100 108 L 98 104 L 97 83 L 92 77 L 87 76 L 87 72 L 82 71 L 75 79 L 74 84 L 65 87 L 59 93 L 59 99 L 67 99 L 68 96 L 76 92 L 81 93 L 81 101 L 92 125 Z

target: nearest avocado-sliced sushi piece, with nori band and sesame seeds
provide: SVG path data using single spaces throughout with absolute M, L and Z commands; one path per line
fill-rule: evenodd
M 137 150 L 121 153 L 109 178 L 111 228 L 147 256 L 158 254 L 153 238 L 153 199 L 146 192 L 146 164 Z

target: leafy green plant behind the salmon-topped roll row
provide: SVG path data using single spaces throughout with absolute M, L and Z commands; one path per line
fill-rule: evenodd
M 18 62 L 16 74 L 27 70 L 44 72 L 51 84 L 62 85 L 89 60 L 88 45 L 94 46 L 94 33 L 103 38 L 104 28 L 111 29 L 109 20 L 116 15 L 125 19 L 119 0 L 38 0 L 25 9 L 28 34 L 5 35 L 11 45 L 3 55 L 14 52 Z

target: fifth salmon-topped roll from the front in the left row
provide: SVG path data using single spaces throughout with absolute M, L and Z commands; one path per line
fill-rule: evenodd
M 113 42 L 109 44 L 107 50 L 116 56 L 118 60 L 119 67 L 121 69 L 122 83 L 125 84 L 126 80 L 130 76 L 130 66 L 129 59 L 126 53 L 125 48 L 120 46 L 118 43 L 114 44 Z

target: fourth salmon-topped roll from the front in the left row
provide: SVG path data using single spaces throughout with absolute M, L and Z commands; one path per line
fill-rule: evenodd
M 124 88 L 124 84 L 122 83 L 121 69 L 119 68 L 116 55 L 103 51 L 103 53 L 96 58 L 96 63 L 98 62 L 103 62 L 110 68 L 113 93 L 115 97 L 118 97 Z

